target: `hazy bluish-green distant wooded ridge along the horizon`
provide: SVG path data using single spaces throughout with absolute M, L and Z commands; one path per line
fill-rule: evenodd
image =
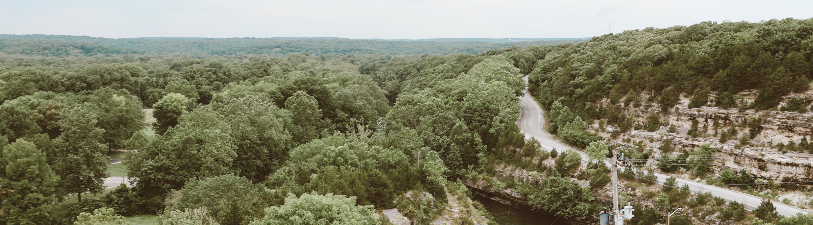
M 169 38 L 146 37 L 112 39 L 102 37 L 63 35 L 0 35 L 0 52 L 7 54 L 67 56 L 94 56 L 115 54 L 172 54 L 193 57 L 226 56 L 235 54 L 263 54 L 285 56 L 292 53 L 309 54 L 478 54 L 486 50 L 502 49 L 512 45 L 560 45 L 586 41 L 584 39 L 553 38 L 491 39 L 491 38 L 439 38 L 429 40 L 354 40 L 338 37 L 273 37 L 273 38 Z M 559 40 L 562 39 L 562 40 Z M 476 41 L 470 41 L 476 40 Z M 502 43 L 497 43 L 502 42 Z

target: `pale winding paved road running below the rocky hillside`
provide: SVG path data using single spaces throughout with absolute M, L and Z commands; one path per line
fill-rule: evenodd
M 525 82 L 528 82 L 527 77 L 525 78 Z M 533 100 L 533 97 L 528 94 L 527 88 L 525 89 L 525 96 L 520 97 L 520 105 L 522 106 L 522 116 L 520 117 L 519 125 L 520 130 L 525 132 L 526 139 L 530 139 L 531 137 L 536 138 L 537 141 L 539 141 L 539 143 L 542 145 L 542 148 L 547 150 L 556 148 L 557 151 L 562 152 L 564 149 L 573 149 L 572 147 L 559 142 L 553 136 L 550 136 L 550 133 L 542 128 L 542 124 L 545 123 L 545 118 L 542 116 L 542 109 L 537 102 Z M 587 154 L 577 149 L 576 151 L 581 154 L 582 161 L 587 162 Z M 661 184 L 663 184 L 668 177 L 667 175 L 662 174 L 656 174 L 656 176 L 658 176 L 658 183 Z M 759 206 L 759 203 L 762 202 L 762 197 L 756 197 L 747 193 L 741 193 L 712 185 L 700 184 L 691 180 L 683 180 L 680 178 L 678 178 L 676 181 L 680 186 L 683 186 L 683 184 L 689 184 L 689 189 L 691 189 L 693 193 L 711 192 L 711 194 L 715 197 L 722 197 L 727 201 L 744 203 L 746 207 L 750 208 L 751 210 L 756 209 Z M 784 216 L 792 216 L 799 212 L 806 213 L 802 209 L 794 206 L 788 206 L 778 201 L 773 201 L 773 205 L 776 206 L 776 211 Z

